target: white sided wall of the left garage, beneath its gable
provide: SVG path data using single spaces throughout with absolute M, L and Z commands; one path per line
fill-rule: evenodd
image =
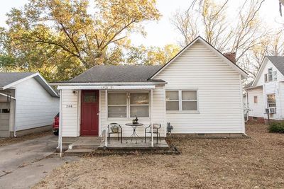
M 15 86 L 16 130 L 52 125 L 59 112 L 59 98 L 50 96 L 34 78 Z

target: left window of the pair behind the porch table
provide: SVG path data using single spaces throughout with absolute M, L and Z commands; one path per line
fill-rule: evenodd
M 108 93 L 108 118 L 126 118 L 127 116 L 126 93 Z

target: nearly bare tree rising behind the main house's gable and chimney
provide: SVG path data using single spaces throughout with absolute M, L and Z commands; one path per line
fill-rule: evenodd
M 217 47 L 221 52 L 236 52 L 236 60 L 251 77 L 255 71 L 251 67 L 259 67 L 256 59 L 251 59 L 251 66 L 244 66 L 244 62 L 252 55 L 253 51 L 268 42 L 272 30 L 269 30 L 261 21 L 258 12 L 265 0 L 244 1 L 237 8 L 234 19 L 228 13 L 228 0 L 215 3 L 213 0 L 197 0 L 186 11 L 177 11 L 172 18 L 172 23 L 182 35 L 181 45 L 202 35 L 205 40 Z M 198 6 L 198 8 L 194 8 Z

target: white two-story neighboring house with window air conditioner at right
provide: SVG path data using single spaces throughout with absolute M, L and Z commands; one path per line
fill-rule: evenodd
M 284 114 L 284 57 L 263 59 L 256 79 L 245 87 L 249 120 L 283 120 Z

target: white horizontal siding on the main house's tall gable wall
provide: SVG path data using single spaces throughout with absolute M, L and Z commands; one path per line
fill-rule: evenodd
M 173 133 L 242 133 L 241 76 L 201 42 L 195 42 L 153 79 L 166 90 L 198 88 L 199 113 L 169 113 Z

